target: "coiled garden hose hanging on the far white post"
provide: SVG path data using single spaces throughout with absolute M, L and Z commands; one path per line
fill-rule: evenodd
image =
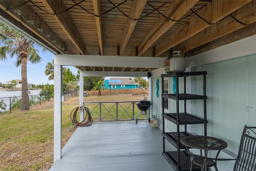
M 82 122 L 78 122 L 76 119 L 76 114 L 77 114 L 77 111 L 79 111 L 79 109 L 84 109 L 84 111 L 86 111 L 85 115 L 84 115 L 84 120 Z M 73 129 L 74 125 L 80 126 L 80 127 L 88 127 L 88 126 L 92 125 L 92 122 L 93 122 L 93 119 L 92 119 L 89 109 L 84 106 L 79 106 L 79 107 L 74 108 L 70 113 L 70 119 L 72 120 L 72 127 L 71 127 L 70 131 Z

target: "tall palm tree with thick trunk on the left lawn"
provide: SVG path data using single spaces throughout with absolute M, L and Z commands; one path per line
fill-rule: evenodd
M 20 110 L 29 110 L 27 63 L 28 61 L 32 64 L 41 62 L 42 58 L 38 55 L 39 50 L 35 48 L 38 45 L 12 28 L 0 23 L 0 46 L 0 60 L 7 60 L 8 54 L 10 58 L 16 56 L 15 66 L 17 68 L 21 65 L 22 102 Z

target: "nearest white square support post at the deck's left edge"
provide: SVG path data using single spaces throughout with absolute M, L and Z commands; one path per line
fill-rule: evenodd
M 53 161 L 61 158 L 61 122 L 62 122 L 62 66 L 54 65 L 54 151 Z

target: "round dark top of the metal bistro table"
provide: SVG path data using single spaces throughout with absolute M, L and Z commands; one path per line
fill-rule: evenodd
M 228 147 L 228 144 L 222 139 L 202 135 L 185 136 L 180 142 L 187 147 L 204 150 L 221 150 Z

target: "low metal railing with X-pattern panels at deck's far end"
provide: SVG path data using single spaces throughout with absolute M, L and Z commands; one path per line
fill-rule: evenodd
M 134 119 L 147 119 L 140 114 L 136 102 L 84 102 L 94 121 L 129 121 Z M 149 112 L 149 111 L 147 111 Z

